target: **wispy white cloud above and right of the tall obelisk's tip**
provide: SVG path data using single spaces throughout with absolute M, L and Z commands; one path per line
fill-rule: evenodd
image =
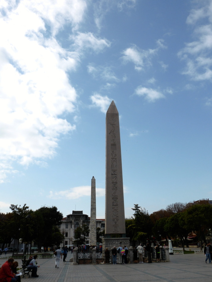
M 135 70 L 143 70 L 144 67 L 150 66 L 152 58 L 158 53 L 159 49 L 164 49 L 163 39 L 158 39 L 157 47 L 155 49 L 142 50 L 139 49 L 136 45 L 125 49 L 122 54 L 122 60 L 124 63 L 132 62 L 135 65 Z

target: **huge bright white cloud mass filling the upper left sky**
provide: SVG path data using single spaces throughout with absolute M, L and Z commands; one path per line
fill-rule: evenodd
M 0 9 L 0 156 L 7 166 L 0 165 L 0 182 L 4 182 L 8 174 L 17 173 L 14 161 L 46 166 L 44 159 L 55 155 L 60 134 L 75 130 L 63 114 L 75 111 L 77 93 L 67 73 L 76 69 L 81 54 L 61 47 L 56 34 L 65 23 L 76 29 L 86 1 L 1 1 Z M 95 43 L 101 46 L 98 40 Z

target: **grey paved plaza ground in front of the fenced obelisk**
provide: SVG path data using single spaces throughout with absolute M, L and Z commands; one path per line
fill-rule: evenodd
M 67 260 L 72 257 L 68 252 Z M 22 282 L 211 282 L 212 264 L 205 263 L 204 254 L 178 254 L 170 256 L 171 262 L 153 262 L 126 265 L 72 265 L 55 259 L 38 259 L 38 278 L 22 278 Z M 1 265 L 5 261 L 0 259 Z M 21 260 L 18 260 L 21 265 Z

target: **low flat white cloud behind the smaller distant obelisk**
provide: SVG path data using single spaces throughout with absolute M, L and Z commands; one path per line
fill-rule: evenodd
M 48 197 L 51 199 L 60 199 L 65 197 L 66 199 L 74 200 L 84 196 L 91 196 L 91 186 L 79 186 L 58 192 L 50 191 Z M 101 196 L 105 196 L 105 189 L 96 188 L 96 197 Z

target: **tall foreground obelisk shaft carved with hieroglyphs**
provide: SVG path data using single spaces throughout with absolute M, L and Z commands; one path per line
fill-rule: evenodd
M 106 113 L 105 238 L 125 237 L 124 192 L 121 164 L 119 116 L 112 101 Z

